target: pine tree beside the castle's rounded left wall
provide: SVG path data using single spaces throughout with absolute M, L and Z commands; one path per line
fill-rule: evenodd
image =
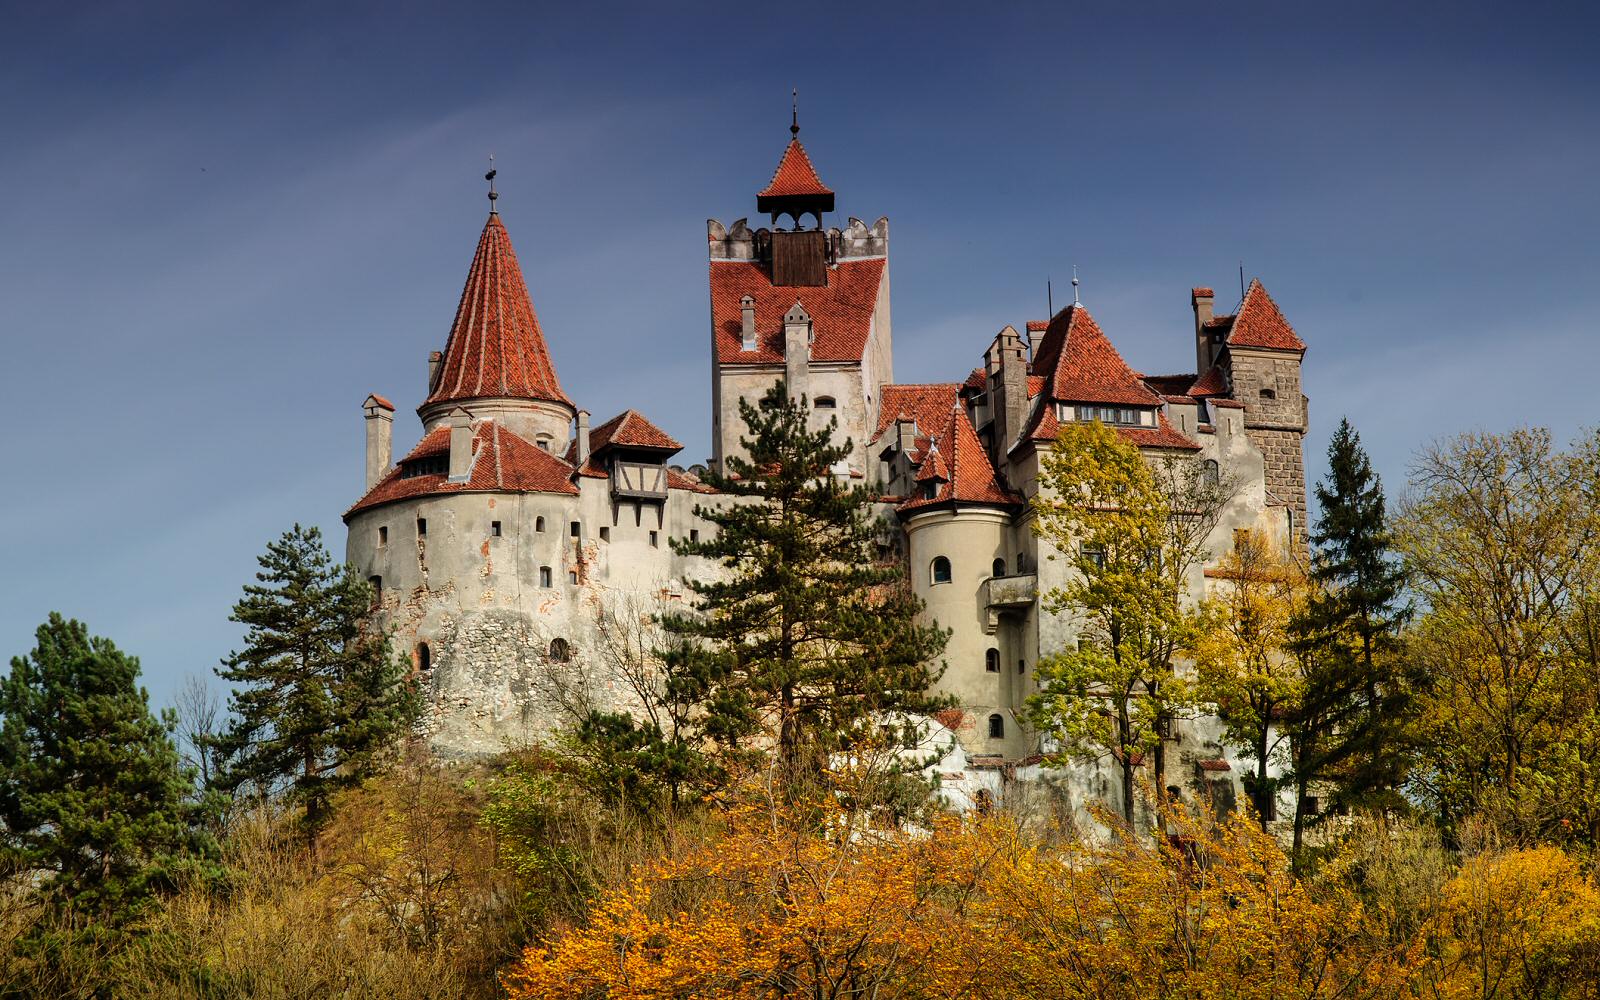
M 234 605 L 245 650 L 218 677 L 235 685 L 230 728 L 216 738 L 227 790 L 286 790 L 315 843 L 330 800 L 360 782 L 406 731 L 421 702 L 389 640 L 366 621 L 373 592 L 334 565 L 317 528 L 285 531 L 258 558 Z

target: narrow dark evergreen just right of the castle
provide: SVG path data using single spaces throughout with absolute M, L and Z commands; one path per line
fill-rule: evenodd
M 1347 419 L 1328 445 L 1328 478 L 1317 485 L 1317 504 L 1315 590 L 1293 626 L 1307 669 L 1307 715 L 1290 720 L 1307 744 L 1296 754 L 1304 757 L 1294 768 L 1299 798 L 1312 781 L 1334 779 L 1342 803 L 1395 805 L 1410 712 L 1398 648 L 1410 606 L 1382 483 Z M 1302 806 L 1294 811 L 1298 840 Z

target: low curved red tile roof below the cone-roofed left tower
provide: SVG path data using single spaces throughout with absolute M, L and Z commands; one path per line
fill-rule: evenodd
M 410 462 L 450 454 L 450 426 L 434 427 L 389 475 L 344 512 L 349 518 L 394 501 L 448 493 L 578 493 L 573 467 L 544 448 L 531 445 L 494 421 L 478 421 L 472 430 L 472 472 L 466 482 L 448 475 L 403 475 Z

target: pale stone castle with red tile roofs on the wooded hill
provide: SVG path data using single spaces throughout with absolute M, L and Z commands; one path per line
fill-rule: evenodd
M 1210 288 L 1190 291 L 1192 373 L 1131 370 L 1074 302 L 1024 333 L 1002 328 L 955 381 L 898 384 L 888 219 L 827 227 L 834 192 L 792 131 L 757 195 L 770 224 L 707 224 L 710 461 L 739 446 L 738 400 L 778 379 L 808 400 L 816 427 L 837 419 L 853 448 L 834 474 L 880 493 L 926 614 L 952 630 L 939 683 L 960 710 L 938 723 L 941 778 L 968 797 L 1005 794 L 1042 776 L 1040 738 L 1021 720 L 1034 664 L 1075 642 L 1070 616 L 1040 605 L 1070 563 L 1042 550 L 1027 502 L 1061 424 L 1102 421 L 1238 483 L 1213 563 L 1238 530 L 1298 539 L 1306 344 L 1251 282 L 1227 315 Z M 682 445 L 648 418 L 624 410 L 597 424 L 566 395 L 490 198 L 445 349 L 429 358 L 422 438 L 392 464 L 394 406 L 366 397 L 366 491 L 344 515 L 347 558 L 427 685 L 430 739 L 459 755 L 558 725 L 578 691 L 626 701 L 608 643 L 715 571 L 667 541 L 698 538 L 696 506 L 725 502 L 672 464 Z M 1205 587 L 1197 566 L 1190 597 Z M 1190 784 L 1237 781 L 1219 725 L 1181 720 L 1168 734 Z M 1067 779 L 1118 797 L 1107 768 Z

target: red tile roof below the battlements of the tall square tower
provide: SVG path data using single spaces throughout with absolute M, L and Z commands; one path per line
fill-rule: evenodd
M 710 326 L 723 365 L 773 365 L 784 360 L 784 314 L 800 302 L 811 314 L 813 362 L 859 362 L 872 331 L 883 282 L 883 259 L 840 261 L 827 285 L 774 288 L 754 261 L 710 262 Z M 755 350 L 742 347 L 739 299 L 755 299 Z

